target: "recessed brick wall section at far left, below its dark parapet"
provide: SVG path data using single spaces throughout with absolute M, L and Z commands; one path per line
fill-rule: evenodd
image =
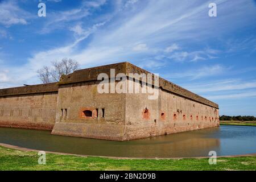
M 52 130 L 56 103 L 56 92 L 0 97 L 0 126 Z

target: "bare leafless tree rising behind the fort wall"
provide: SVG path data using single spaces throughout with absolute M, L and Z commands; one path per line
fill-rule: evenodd
M 72 59 L 62 59 L 60 62 L 52 61 L 52 67 L 46 67 L 38 70 L 38 76 L 44 84 L 49 82 L 58 82 L 60 77 L 68 75 L 79 69 L 79 63 Z

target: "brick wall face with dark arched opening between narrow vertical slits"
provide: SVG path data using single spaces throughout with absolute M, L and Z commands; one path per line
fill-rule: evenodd
M 52 134 L 122 140 L 125 131 L 125 94 L 99 94 L 98 83 L 88 81 L 60 85 Z M 67 110 L 67 115 L 62 110 Z M 91 110 L 92 117 L 81 117 L 83 110 Z

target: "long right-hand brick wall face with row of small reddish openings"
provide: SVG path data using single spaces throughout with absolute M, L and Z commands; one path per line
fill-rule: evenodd
M 148 94 L 126 94 L 127 140 L 217 127 L 220 124 L 218 109 L 215 107 L 165 90 L 159 90 L 158 100 L 148 100 L 147 96 Z M 150 111 L 149 119 L 142 116 L 145 108 Z

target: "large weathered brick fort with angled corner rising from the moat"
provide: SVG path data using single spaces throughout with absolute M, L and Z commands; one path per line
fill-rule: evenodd
M 98 75 L 105 73 L 112 80 L 111 69 L 115 76 L 125 75 L 126 84 L 138 86 L 140 91 L 143 86 L 157 89 L 158 97 L 150 100 L 148 92 L 99 93 L 102 80 L 98 80 Z M 129 79 L 131 73 L 150 74 L 124 62 L 81 69 L 51 84 L 0 89 L 0 127 L 131 140 L 220 125 L 218 105 L 214 102 L 161 77 L 158 84 L 152 81 L 153 86 L 146 85 L 143 80 Z M 114 80 L 114 85 L 119 82 Z

